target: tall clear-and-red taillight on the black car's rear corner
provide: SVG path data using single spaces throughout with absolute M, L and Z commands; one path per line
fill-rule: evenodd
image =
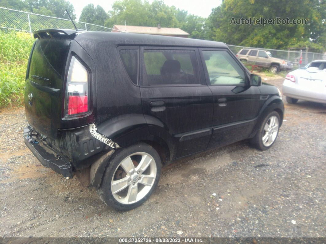
M 89 74 L 87 69 L 76 57 L 72 57 L 67 78 L 65 110 L 67 116 L 89 111 L 88 80 Z

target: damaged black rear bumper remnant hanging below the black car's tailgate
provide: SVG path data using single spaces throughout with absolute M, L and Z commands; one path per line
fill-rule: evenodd
M 58 174 L 63 175 L 65 178 L 72 178 L 73 172 L 70 162 L 60 156 L 42 140 L 29 136 L 31 134 L 31 130 L 34 130 L 31 126 L 24 128 L 24 142 L 29 150 L 31 150 L 37 157 L 40 163 L 47 168 L 51 168 Z

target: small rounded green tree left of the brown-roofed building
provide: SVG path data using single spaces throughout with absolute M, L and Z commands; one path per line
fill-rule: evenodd
M 97 25 L 104 25 L 104 21 L 108 18 L 108 14 L 105 12 L 103 7 L 97 5 L 88 4 L 82 9 L 82 14 L 79 18 L 79 21 L 97 24 Z

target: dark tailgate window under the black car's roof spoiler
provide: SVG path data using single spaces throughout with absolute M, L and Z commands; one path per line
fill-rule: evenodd
M 29 64 L 28 79 L 61 88 L 70 41 L 37 40 Z

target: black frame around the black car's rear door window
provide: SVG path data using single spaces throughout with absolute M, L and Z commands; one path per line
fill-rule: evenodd
M 142 67 L 144 64 L 144 50 L 190 50 L 195 51 L 197 66 L 198 66 L 198 78 L 200 79 L 200 84 L 167 84 L 167 85 L 143 85 L 143 72 Z M 139 77 L 140 77 L 140 87 L 196 87 L 196 86 L 206 86 L 204 71 L 202 66 L 200 65 L 200 54 L 197 47 L 175 47 L 175 46 L 141 46 L 140 47 L 140 69 L 139 69 Z

